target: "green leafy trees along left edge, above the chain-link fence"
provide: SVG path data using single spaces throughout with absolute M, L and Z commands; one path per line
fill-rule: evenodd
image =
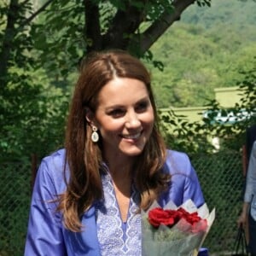
M 30 1 L 0 4 L 1 160 L 27 160 L 44 147 L 53 149 L 63 136 L 67 93 L 51 87 L 45 71 L 37 68 L 27 18 L 32 11 Z

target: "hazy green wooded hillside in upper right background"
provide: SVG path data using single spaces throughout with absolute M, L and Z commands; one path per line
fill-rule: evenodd
M 151 67 L 158 106 L 201 106 L 214 88 L 236 85 L 256 56 L 255 10 L 253 0 L 189 7 L 151 48 L 165 66 Z

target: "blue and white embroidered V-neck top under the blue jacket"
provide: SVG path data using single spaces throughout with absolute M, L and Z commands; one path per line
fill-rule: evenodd
M 97 237 L 102 256 L 141 254 L 141 215 L 138 214 L 138 193 L 131 186 L 128 217 L 123 223 L 116 200 L 112 178 L 102 174 L 104 199 L 96 204 Z M 106 236 L 108 230 L 108 236 Z

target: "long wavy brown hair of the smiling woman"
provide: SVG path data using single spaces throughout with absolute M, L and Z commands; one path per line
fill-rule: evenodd
M 161 172 L 166 160 L 166 146 L 160 136 L 150 74 L 136 57 L 120 50 L 96 52 L 87 56 L 80 67 L 66 131 L 66 191 L 58 197 L 57 210 L 63 213 L 68 230 L 80 231 L 81 217 L 97 200 L 102 199 L 102 143 L 92 143 L 86 109 L 95 112 L 98 94 L 114 76 L 138 79 L 148 90 L 154 109 L 154 128 L 142 154 L 136 158 L 134 182 L 140 193 L 140 208 L 147 209 L 166 189 L 170 177 Z

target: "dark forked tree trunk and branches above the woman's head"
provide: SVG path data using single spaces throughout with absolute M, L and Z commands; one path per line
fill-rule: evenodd
M 128 3 L 124 9 L 118 9 L 113 17 L 108 32 L 101 35 L 99 24 L 99 9 L 91 0 L 84 0 L 85 8 L 85 30 L 84 38 L 90 40 L 90 45 L 86 51 L 98 49 L 125 49 L 134 55 L 142 56 L 144 53 L 172 26 L 176 20 L 180 19 L 184 9 L 195 3 L 196 0 L 175 0 L 173 1 L 173 11 L 164 12 L 160 19 L 155 20 L 148 29 L 138 32 L 142 22 L 146 19 L 143 9 L 137 9 Z M 144 1 L 141 1 L 144 3 Z

